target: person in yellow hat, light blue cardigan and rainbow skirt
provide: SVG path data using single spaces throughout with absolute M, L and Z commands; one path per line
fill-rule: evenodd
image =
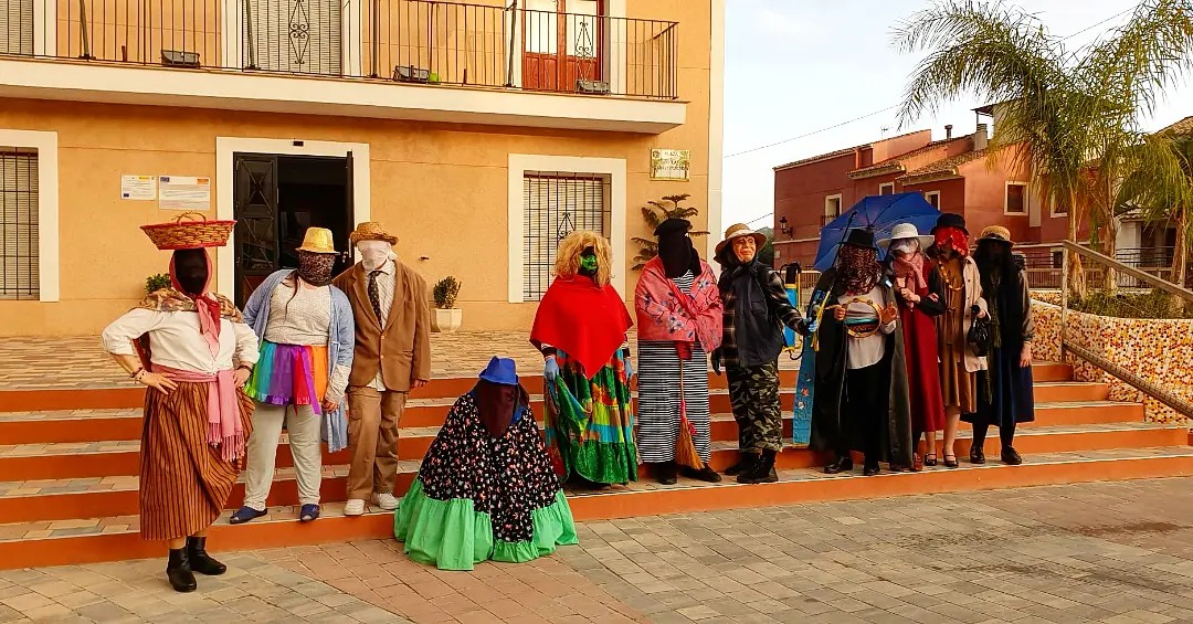
M 352 304 L 332 285 L 339 252 L 332 231 L 309 228 L 298 270 L 283 268 L 265 278 L 245 304 L 245 322 L 261 340 L 261 357 L 246 393 L 256 401 L 248 439 L 245 505 L 231 524 L 265 515 L 273 484 L 278 438 L 285 425 L 298 481 L 298 521 L 319 518 L 323 457 L 348 445 L 344 391 L 352 372 Z

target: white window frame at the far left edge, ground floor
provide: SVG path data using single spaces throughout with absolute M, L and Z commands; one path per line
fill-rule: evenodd
M 0 146 L 37 150 L 37 301 L 61 301 L 58 282 L 58 134 L 0 129 Z

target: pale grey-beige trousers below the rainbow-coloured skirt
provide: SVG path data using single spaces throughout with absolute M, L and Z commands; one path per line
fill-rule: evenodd
M 319 505 L 319 487 L 323 480 L 323 456 L 320 449 L 322 416 L 310 406 L 271 406 L 258 403 L 253 413 L 253 434 L 248 438 L 248 467 L 245 470 L 245 506 L 265 511 L 265 499 L 273 484 L 273 465 L 278 438 L 285 425 L 290 435 L 290 455 L 298 477 L 298 503 Z

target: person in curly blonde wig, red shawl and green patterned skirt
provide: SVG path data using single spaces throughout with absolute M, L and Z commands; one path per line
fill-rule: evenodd
M 539 302 L 530 341 L 543 353 L 546 432 L 564 480 L 605 488 L 638 478 L 630 350 L 633 326 L 610 285 L 613 254 L 595 231 L 573 231 L 556 252 L 555 280 Z

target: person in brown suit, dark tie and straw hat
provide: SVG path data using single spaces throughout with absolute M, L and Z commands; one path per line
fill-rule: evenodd
M 400 262 L 397 239 L 376 222 L 357 225 L 348 240 L 363 260 L 333 280 L 348 295 L 357 347 L 348 377 L 348 502 L 360 515 L 366 501 L 397 508 L 397 427 L 412 388 L 431 379 L 431 309 L 427 283 Z

